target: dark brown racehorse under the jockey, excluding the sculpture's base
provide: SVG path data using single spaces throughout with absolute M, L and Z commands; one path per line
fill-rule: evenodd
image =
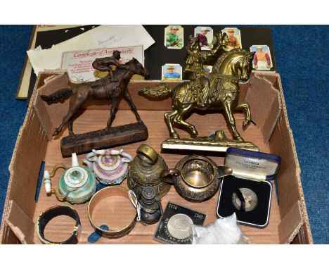
M 100 61 L 100 63 L 104 67 L 108 66 L 104 61 Z M 69 122 L 68 130 L 70 135 L 74 135 L 74 116 L 89 99 L 112 99 L 110 118 L 108 119 L 106 130 L 109 130 L 112 125 L 112 122 L 115 118 L 115 113 L 117 111 L 117 106 L 119 105 L 122 97 L 127 99 L 129 105 L 136 115 L 136 120 L 138 123 L 142 123 L 141 117 L 138 115 L 136 106 L 131 100 L 131 96 L 127 90 L 127 85 L 134 74 L 146 77 L 148 76 L 148 71 L 143 68 L 143 65 L 141 65 L 141 63 L 139 63 L 136 58 L 133 58 L 131 61 L 125 63 L 125 66 L 127 66 L 127 68 L 117 68 L 113 73 L 113 76 L 117 82 L 112 82 L 110 77 L 104 77 L 103 79 L 96 80 L 95 82 L 84 82 L 79 84 L 72 83 L 72 87 L 70 89 L 60 89 L 49 96 L 41 95 L 41 99 L 46 101 L 48 104 L 63 101 L 70 96 L 69 111 L 64 116 L 62 123 L 56 127 L 55 132 L 53 132 L 53 136 L 59 134 L 67 122 Z M 111 67 L 109 66 L 108 68 Z

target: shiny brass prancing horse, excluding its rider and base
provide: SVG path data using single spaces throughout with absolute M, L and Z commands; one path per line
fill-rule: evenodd
M 190 115 L 194 108 L 205 110 L 209 108 L 224 108 L 224 115 L 228 126 L 233 132 L 233 138 L 238 142 L 244 142 L 236 129 L 236 120 L 233 111 L 245 111 L 243 128 L 250 124 L 250 107 L 247 103 L 238 104 L 239 81 L 246 82 L 251 74 L 251 64 L 254 52 L 247 52 L 243 49 L 233 49 L 222 54 L 214 64 L 212 73 L 202 73 L 203 80 L 209 81 L 209 94 L 204 106 L 198 106 L 198 101 L 193 89 L 195 82 L 181 82 L 173 88 L 166 84 L 157 87 L 138 89 L 139 92 L 153 98 L 161 98 L 167 95 L 172 96 L 173 110 L 164 113 L 170 137 L 179 139 L 173 125 L 185 127 L 191 134 L 198 135 L 194 125 L 187 123 L 184 118 Z M 203 71 L 198 71 L 203 72 Z M 191 96 L 191 97 L 188 97 Z M 194 96 L 194 97 L 193 97 Z

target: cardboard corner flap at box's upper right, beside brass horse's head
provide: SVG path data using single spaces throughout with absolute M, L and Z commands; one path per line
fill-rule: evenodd
M 245 101 L 250 105 L 252 120 L 262 130 L 264 142 L 269 142 L 282 110 L 279 90 L 266 77 L 253 73 Z

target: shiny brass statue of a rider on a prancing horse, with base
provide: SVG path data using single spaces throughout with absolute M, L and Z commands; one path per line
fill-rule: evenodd
M 181 82 L 173 88 L 161 84 L 156 87 L 138 89 L 141 94 L 151 98 L 172 96 L 173 110 L 164 113 L 164 120 L 171 137 L 162 143 L 164 149 L 210 150 L 209 146 L 212 146 L 213 151 L 225 151 L 229 146 L 257 149 L 254 144 L 245 142 L 240 136 L 233 116 L 233 111 L 245 111 L 243 127 L 247 127 L 250 123 L 249 105 L 247 103 L 238 104 L 240 90 L 238 82 L 246 82 L 249 79 L 254 52 L 247 52 L 243 49 L 228 51 L 225 45 L 227 35 L 221 32 L 215 39 L 214 49 L 201 51 L 198 39 L 190 37 L 185 73 L 190 75 L 191 81 Z M 222 54 L 215 59 L 212 73 L 203 70 L 204 61 L 214 58 L 219 51 Z M 195 136 L 198 135 L 195 126 L 184 120 L 193 109 L 206 110 L 218 107 L 224 109 L 228 127 L 233 133 L 233 140 L 226 138 L 223 131 L 217 131 L 214 138 L 179 139 L 174 125 L 187 129 Z

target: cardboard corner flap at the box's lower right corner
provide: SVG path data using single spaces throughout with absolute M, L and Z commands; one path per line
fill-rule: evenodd
M 280 244 L 290 244 L 302 227 L 303 222 L 302 211 L 299 201 L 297 201 L 278 226 Z

